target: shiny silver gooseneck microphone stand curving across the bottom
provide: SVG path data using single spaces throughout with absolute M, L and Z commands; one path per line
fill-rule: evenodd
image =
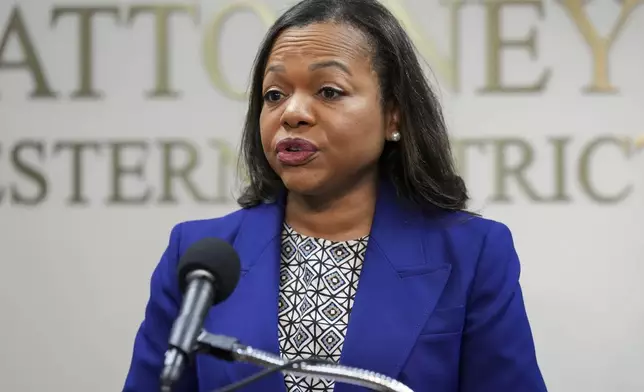
M 196 351 L 226 361 L 239 361 L 264 368 L 284 367 L 282 373 L 295 376 L 325 378 L 369 388 L 380 392 L 413 392 L 403 383 L 390 377 L 363 369 L 333 363 L 300 363 L 288 367 L 289 362 L 275 354 L 243 345 L 235 338 L 202 331 L 197 338 Z

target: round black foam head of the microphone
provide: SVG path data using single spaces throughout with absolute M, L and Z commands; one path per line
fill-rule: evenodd
M 177 270 L 181 292 L 185 292 L 191 272 L 203 270 L 210 273 L 215 278 L 213 305 L 216 305 L 228 298 L 237 287 L 241 264 L 237 252 L 229 243 L 219 238 L 204 238 L 186 250 Z

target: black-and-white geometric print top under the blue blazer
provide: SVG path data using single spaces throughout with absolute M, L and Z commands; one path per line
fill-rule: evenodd
M 278 337 L 288 359 L 338 362 L 369 236 L 329 241 L 282 229 Z M 331 392 L 334 382 L 284 376 L 288 392 Z

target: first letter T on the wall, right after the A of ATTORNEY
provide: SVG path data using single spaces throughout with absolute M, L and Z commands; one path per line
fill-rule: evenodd
M 54 7 L 51 13 L 52 26 L 62 16 L 78 17 L 78 69 L 80 81 L 78 90 L 72 93 L 74 98 L 100 98 L 101 93 L 94 90 L 94 17 L 108 15 L 119 21 L 119 9 L 110 7 Z

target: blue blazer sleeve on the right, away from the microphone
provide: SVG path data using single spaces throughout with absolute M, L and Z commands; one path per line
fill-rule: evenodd
M 519 285 L 510 230 L 495 223 L 479 255 L 468 299 L 461 355 L 461 392 L 547 391 L 537 364 Z

